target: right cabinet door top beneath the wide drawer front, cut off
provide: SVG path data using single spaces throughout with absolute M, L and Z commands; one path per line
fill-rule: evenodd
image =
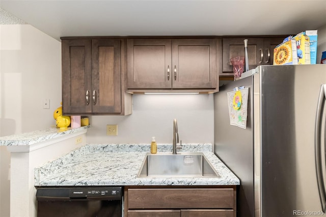
M 234 211 L 231 209 L 181 209 L 181 217 L 233 217 Z

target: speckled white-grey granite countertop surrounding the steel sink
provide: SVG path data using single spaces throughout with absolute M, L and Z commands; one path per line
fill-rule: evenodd
M 137 178 L 150 144 L 88 144 L 35 168 L 35 186 L 240 184 L 211 150 L 211 144 L 182 144 L 179 152 L 203 152 L 219 178 Z M 160 152 L 171 153 L 172 145 L 157 144 Z

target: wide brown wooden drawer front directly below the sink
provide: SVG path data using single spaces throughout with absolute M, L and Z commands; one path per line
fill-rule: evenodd
M 128 189 L 129 209 L 233 208 L 233 188 Z

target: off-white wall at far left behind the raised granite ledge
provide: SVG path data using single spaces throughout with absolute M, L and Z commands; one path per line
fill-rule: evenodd
M 43 100 L 50 108 L 43 109 Z M 0 136 L 55 125 L 61 102 L 61 43 L 28 24 L 0 25 Z M 9 216 L 10 153 L 0 147 L 0 216 Z

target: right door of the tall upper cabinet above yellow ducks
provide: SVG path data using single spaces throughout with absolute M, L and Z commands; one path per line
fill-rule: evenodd
M 119 39 L 92 40 L 92 113 L 121 113 Z

